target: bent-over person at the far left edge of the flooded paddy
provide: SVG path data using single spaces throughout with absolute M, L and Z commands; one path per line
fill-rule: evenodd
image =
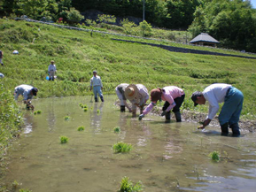
M 36 96 L 38 92 L 37 88 L 30 85 L 19 85 L 14 89 L 15 100 L 18 100 L 19 95 L 23 96 L 24 104 L 27 104 L 27 110 L 34 110 L 34 106 L 31 104 L 33 96 Z

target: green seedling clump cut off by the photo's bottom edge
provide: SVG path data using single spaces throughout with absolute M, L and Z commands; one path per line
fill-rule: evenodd
M 119 192 L 136 192 L 143 191 L 143 184 L 141 181 L 138 181 L 135 185 L 132 180 L 129 180 L 128 177 L 123 177 L 120 181 L 120 189 Z

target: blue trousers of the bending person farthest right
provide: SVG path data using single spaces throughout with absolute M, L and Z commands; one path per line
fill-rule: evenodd
M 224 104 L 219 115 L 220 125 L 229 122 L 229 126 L 238 123 L 243 108 L 244 95 L 237 88 L 231 87 L 225 96 Z

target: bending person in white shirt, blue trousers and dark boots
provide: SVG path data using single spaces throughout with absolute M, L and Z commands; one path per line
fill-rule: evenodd
M 194 92 L 191 99 L 194 106 L 209 102 L 208 116 L 199 128 L 203 129 L 209 125 L 219 110 L 219 104 L 224 102 L 219 115 L 221 134 L 228 135 L 231 128 L 234 136 L 240 135 L 238 121 L 244 102 L 244 95 L 240 90 L 229 84 L 215 83 L 206 87 L 203 92 Z

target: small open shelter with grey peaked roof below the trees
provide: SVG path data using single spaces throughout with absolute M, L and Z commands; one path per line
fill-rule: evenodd
M 200 35 L 196 36 L 194 39 L 190 41 L 192 44 L 198 44 L 202 46 L 213 46 L 217 47 L 217 40 L 215 40 L 211 35 L 208 35 L 206 33 L 201 33 Z

